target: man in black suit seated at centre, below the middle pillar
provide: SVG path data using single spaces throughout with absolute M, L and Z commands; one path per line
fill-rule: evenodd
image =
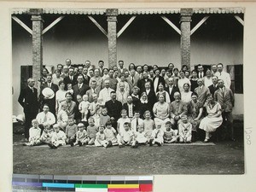
M 105 103 L 106 108 L 108 108 L 108 115 L 111 119 L 113 128 L 117 129 L 117 121 L 121 116 L 122 102 L 116 100 L 116 92 L 111 91 L 111 100 Z

